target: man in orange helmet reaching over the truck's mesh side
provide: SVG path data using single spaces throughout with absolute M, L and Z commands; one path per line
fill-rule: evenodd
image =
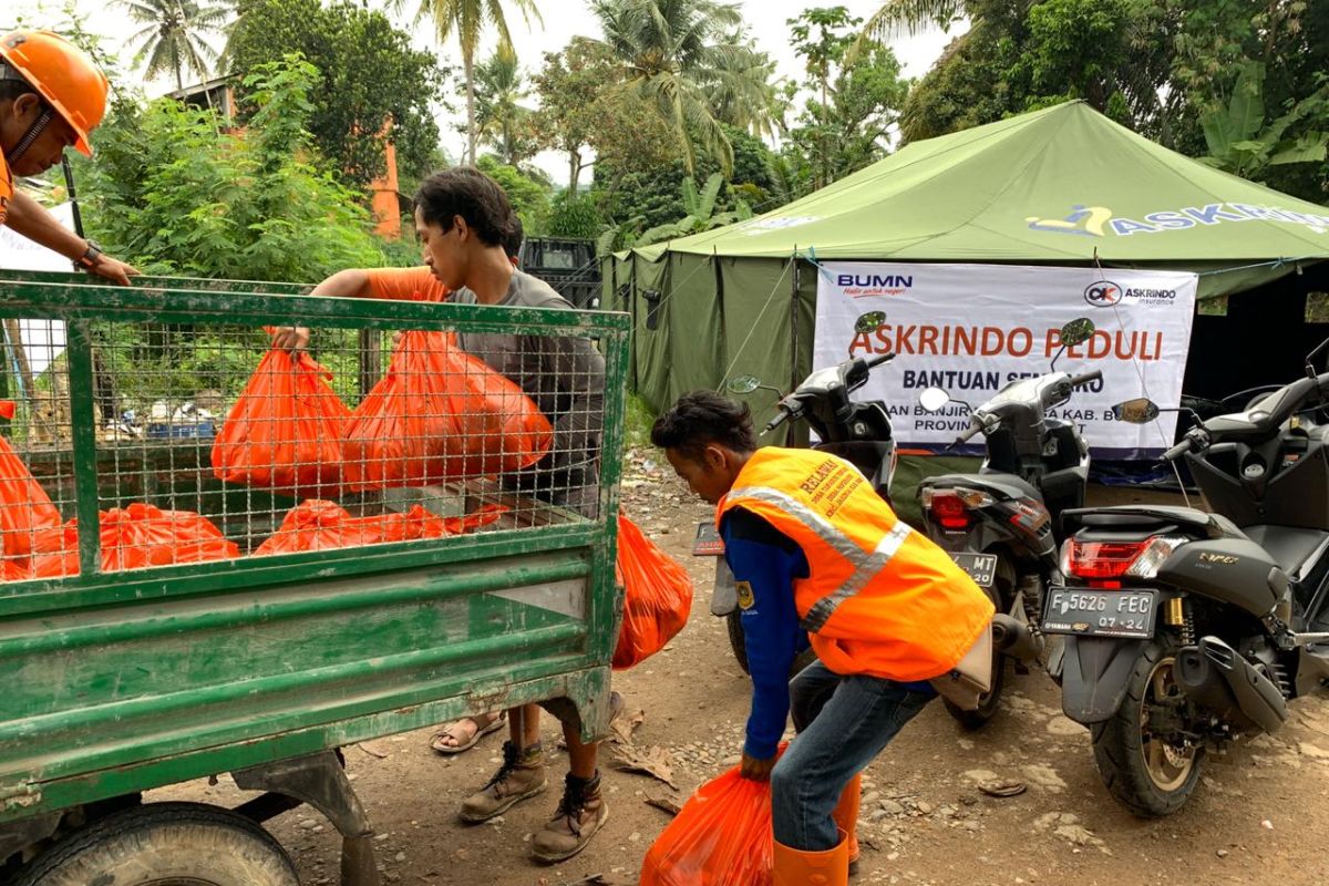
M 13 177 L 39 175 L 73 146 L 92 157 L 88 134 L 106 113 L 106 74 L 88 53 L 49 31 L 0 36 L 0 224 L 120 284 L 136 268 L 62 226 Z

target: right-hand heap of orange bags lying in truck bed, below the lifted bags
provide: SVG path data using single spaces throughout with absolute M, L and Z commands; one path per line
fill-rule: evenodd
M 465 517 L 437 517 L 415 505 L 405 514 L 352 517 L 340 505 L 311 499 L 287 511 L 280 529 L 258 546 L 254 557 L 460 535 L 494 522 L 505 511 L 504 505 L 486 505 Z

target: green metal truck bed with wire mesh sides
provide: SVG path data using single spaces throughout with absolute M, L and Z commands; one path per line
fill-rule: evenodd
M 447 517 L 488 503 L 505 509 L 498 522 L 254 555 L 299 490 L 217 480 L 206 422 L 173 406 L 209 385 L 215 432 L 267 349 L 260 328 L 294 319 L 315 329 L 311 353 L 348 405 L 381 373 L 396 329 L 593 341 L 606 364 L 597 517 L 459 477 L 340 505 Z M 338 748 L 530 701 L 586 739 L 607 731 L 626 316 L 3 272 L 0 320 L 0 399 L 20 406 L 0 436 L 77 533 L 77 574 L 0 582 L 0 882 L 23 882 L 29 862 L 144 790 L 233 773 L 266 792 L 238 810 L 251 820 L 298 801 L 327 814 L 344 838 L 343 882 L 365 886 L 379 877 L 372 830 Z M 48 348 L 40 372 L 25 332 Z M 114 430 L 126 404 L 159 413 L 166 432 Z M 36 433 L 41 408 L 56 433 Z M 101 571 L 100 521 L 134 501 L 202 515 L 239 557 Z

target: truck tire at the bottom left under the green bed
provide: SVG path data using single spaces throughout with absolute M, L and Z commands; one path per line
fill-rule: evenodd
M 15 886 L 299 886 L 282 845 L 229 809 L 159 802 L 57 842 Z

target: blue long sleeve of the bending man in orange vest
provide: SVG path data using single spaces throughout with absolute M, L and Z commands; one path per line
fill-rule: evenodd
M 808 576 L 803 549 L 756 514 L 735 507 L 720 525 L 724 559 L 739 590 L 743 639 L 752 675 L 752 709 L 743 752 L 775 756 L 789 716 L 789 668 L 808 647 L 793 603 L 793 580 Z

